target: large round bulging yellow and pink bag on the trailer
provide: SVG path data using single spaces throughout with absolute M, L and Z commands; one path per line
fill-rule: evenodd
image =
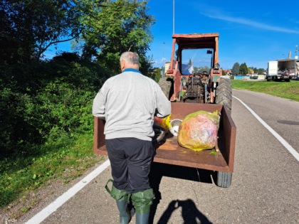
M 218 110 L 199 110 L 188 114 L 179 125 L 177 141 L 180 146 L 201 151 L 213 149 L 217 144 L 220 116 Z

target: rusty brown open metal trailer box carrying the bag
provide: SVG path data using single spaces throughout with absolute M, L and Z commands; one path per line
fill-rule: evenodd
M 211 150 L 193 151 L 179 146 L 177 137 L 166 134 L 164 141 L 156 144 L 154 162 L 188 166 L 198 169 L 216 171 L 216 185 L 228 188 L 234 172 L 234 154 L 236 144 L 236 125 L 231 119 L 231 113 L 224 105 L 194 104 L 172 102 L 171 119 L 184 119 L 187 114 L 204 110 L 221 112 L 218 146 L 219 151 L 211 154 Z M 104 135 L 105 121 L 95 117 L 94 120 L 94 152 L 95 154 L 107 155 Z

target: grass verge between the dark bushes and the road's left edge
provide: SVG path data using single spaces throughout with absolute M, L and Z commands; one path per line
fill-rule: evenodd
M 101 159 L 93 153 L 92 132 L 47 142 L 40 151 L 36 156 L 19 154 L 1 159 L 0 208 L 57 178 L 68 183 Z

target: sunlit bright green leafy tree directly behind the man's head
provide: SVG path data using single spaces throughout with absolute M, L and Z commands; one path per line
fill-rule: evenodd
M 85 0 L 88 14 L 81 21 L 85 28 L 81 35 L 83 57 L 98 60 L 100 65 L 120 72 L 121 53 L 131 50 L 140 55 L 140 70 L 147 71 L 150 58 L 145 55 L 150 49 L 154 18 L 147 14 L 147 1 L 108 0 L 94 4 Z

